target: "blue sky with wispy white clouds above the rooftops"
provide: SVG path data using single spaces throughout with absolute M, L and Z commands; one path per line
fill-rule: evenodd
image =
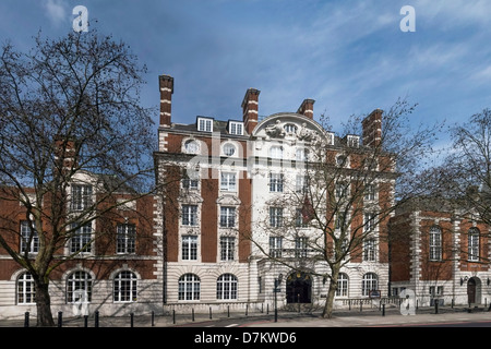
M 418 105 L 415 128 L 491 108 L 489 0 L 1 0 L 0 43 L 27 50 L 39 31 L 62 37 L 76 5 L 88 31 L 113 35 L 147 65 L 144 106 L 158 106 L 158 75 L 173 76 L 178 123 L 241 119 L 250 87 L 261 91 L 260 116 L 312 98 L 314 119 L 330 116 L 338 132 L 350 115 L 399 98 Z

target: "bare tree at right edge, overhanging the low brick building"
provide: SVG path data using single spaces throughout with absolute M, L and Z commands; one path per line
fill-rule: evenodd
M 491 110 L 472 115 L 467 122 L 450 128 L 453 141 L 441 166 L 424 172 L 424 180 L 432 183 L 428 195 L 444 200 L 457 219 L 491 225 Z M 487 229 L 465 231 L 460 246 L 454 246 L 457 256 L 479 263 L 489 263 L 489 256 L 471 251 L 469 244 L 488 239 Z M 472 241 L 475 243 L 472 243 Z M 474 254 L 470 256 L 469 254 Z

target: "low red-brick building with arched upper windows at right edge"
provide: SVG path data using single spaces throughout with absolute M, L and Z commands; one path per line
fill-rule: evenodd
M 416 200 L 391 220 L 391 281 L 420 306 L 488 304 L 489 226 L 441 200 Z M 408 292 L 409 294 L 409 292 Z

